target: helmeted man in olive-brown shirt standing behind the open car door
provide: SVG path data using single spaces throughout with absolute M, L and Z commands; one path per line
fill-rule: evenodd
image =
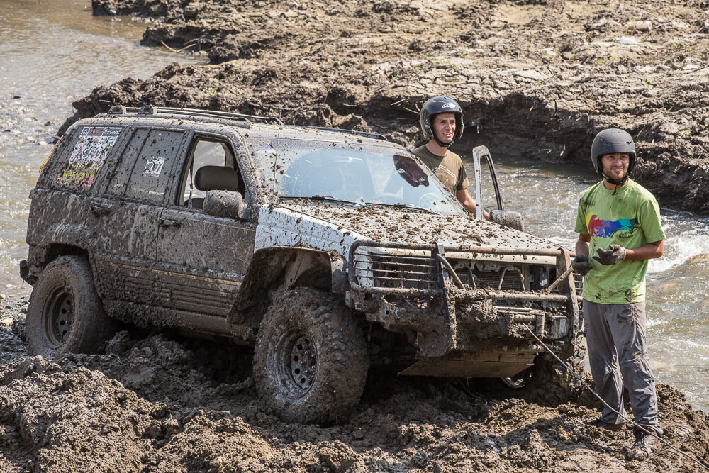
M 463 135 L 463 112 L 450 97 L 433 97 L 426 101 L 419 115 L 421 133 L 428 140 L 413 150 L 423 164 L 433 171 L 445 187 L 454 192 L 467 211 L 475 213 L 475 201 L 468 194 L 468 177 L 460 156 L 448 149 Z M 487 217 L 487 212 L 484 212 Z

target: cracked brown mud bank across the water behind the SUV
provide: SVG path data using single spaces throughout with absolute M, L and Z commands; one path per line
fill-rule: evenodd
M 150 103 L 371 129 L 413 146 L 420 104 L 448 94 L 466 113 L 460 149 L 587 166 L 593 135 L 620 126 L 637 139 L 635 179 L 666 206 L 709 213 L 705 1 L 93 3 L 143 18 L 145 45 L 213 64 L 98 87 L 67 123 Z

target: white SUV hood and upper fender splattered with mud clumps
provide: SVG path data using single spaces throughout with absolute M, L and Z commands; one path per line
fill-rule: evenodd
M 308 245 L 344 255 L 355 240 L 549 250 L 557 247 L 527 233 L 467 216 L 445 216 L 393 207 L 279 203 L 262 208 L 257 249 Z

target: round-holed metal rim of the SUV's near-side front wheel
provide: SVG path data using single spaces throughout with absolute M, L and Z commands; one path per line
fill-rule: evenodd
M 291 330 L 277 347 L 277 372 L 281 388 L 289 397 L 308 394 L 318 375 L 318 350 L 302 330 Z

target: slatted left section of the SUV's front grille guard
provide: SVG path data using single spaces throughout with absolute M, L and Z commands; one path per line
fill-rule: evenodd
M 396 289 L 437 289 L 435 263 L 430 256 L 354 253 L 354 275 L 363 286 Z

